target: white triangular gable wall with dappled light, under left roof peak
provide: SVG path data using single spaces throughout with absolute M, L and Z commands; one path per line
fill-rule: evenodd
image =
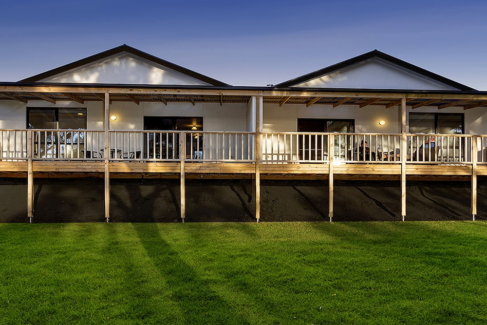
M 39 82 L 209 85 L 129 53 L 108 57 Z

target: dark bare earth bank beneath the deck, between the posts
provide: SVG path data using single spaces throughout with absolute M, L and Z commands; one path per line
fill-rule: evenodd
M 35 179 L 33 222 L 105 222 L 103 179 Z M 186 222 L 255 221 L 250 180 L 186 182 Z M 471 220 L 469 182 L 408 182 L 406 220 Z M 334 221 L 401 220 L 397 181 L 337 181 Z M 179 180 L 112 179 L 111 222 L 180 222 Z M 487 182 L 478 187 L 487 220 Z M 25 179 L 0 179 L 0 222 L 27 222 Z M 261 222 L 329 221 L 326 181 L 261 181 Z

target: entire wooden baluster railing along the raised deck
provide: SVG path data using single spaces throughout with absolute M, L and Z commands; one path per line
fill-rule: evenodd
M 187 162 L 254 162 L 255 136 L 252 132 L 110 131 L 109 159 L 180 161 L 184 139 Z M 406 139 L 406 163 L 471 164 L 475 158 L 487 164 L 487 135 L 407 134 Z M 342 163 L 400 163 L 403 152 L 401 134 L 262 133 L 261 148 L 263 163 L 328 163 L 331 155 Z M 104 150 L 104 131 L 0 130 L 4 161 L 102 160 Z

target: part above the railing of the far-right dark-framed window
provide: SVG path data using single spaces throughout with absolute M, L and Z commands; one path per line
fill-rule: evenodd
M 409 133 L 464 134 L 464 115 L 447 113 L 410 113 Z

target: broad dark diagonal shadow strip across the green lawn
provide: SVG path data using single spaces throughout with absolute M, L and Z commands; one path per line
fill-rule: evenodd
M 184 310 L 187 324 L 249 324 L 244 315 L 200 278 L 178 252 L 161 237 L 155 224 L 133 224 L 153 265 L 172 290 L 172 299 Z

